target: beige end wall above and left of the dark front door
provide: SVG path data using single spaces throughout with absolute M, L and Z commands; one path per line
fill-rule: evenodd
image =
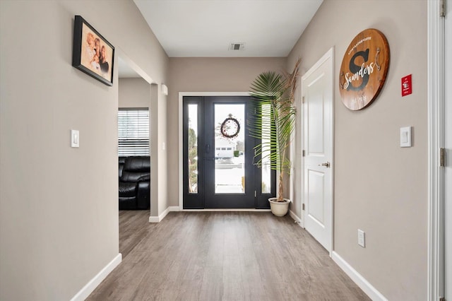
M 171 58 L 167 103 L 168 200 L 179 206 L 179 92 L 247 92 L 263 71 L 282 71 L 285 58 Z

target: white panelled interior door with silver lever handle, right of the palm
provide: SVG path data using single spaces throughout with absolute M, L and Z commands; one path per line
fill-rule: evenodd
M 333 48 L 302 76 L 304 228 L 333 242 Z

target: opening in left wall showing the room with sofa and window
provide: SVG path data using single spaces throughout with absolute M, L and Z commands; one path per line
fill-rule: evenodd
M 148 182 L 138 183 L 141 186 L 141 190 L 146 190 L 145 198 L 134 194 L 136 189 L 136 183 L 133 183 L 133 177 L 137 177 L 137 172 L 144 170 L 137 170 L 142 168 L 142 162 L 137 160 L 131 160 L 127 172 L 129 172 L 129 180 L 126 184 L 130 184 L 130 187 L 123 185 L 121 187 L 121 162 L 126 158 L 150 158 L 150 120 L 153 112 L 151 112 L 151 87 L 152 79 L 144 73 L 136 64 L 129 59 L 121 50 L 119 50 L 118 61 L 118 165 L 119 165 L 119 177 L 118 177 L 118 191 L 119 199 L 117 203 L 119 206 L 119 252 L 124 259 L 131 249 L 141 241 L 145 235 L 145 225 L 149 223 L 150 209 L 148 206 L 149 201 L 153 201 L 150 197 L 149 189 L 145 189 L 145 186 L 150 186 L 153 182 L 153 177 L 148 179 Z M 124 160 L 122 161 L 121 158 Z M 150 165 L 150 160 L 146 161 Z M 133 169 L 133 170 L 131 170 Z M 139 177 L 143 176 L 139 175 Z M 138 177 L 136 178 L 138 180 Z M 129 181 L 128 180 L 128 181 Z M 144 179 L 143 179 L 144 180 Z M 143 189 L 144 188 L 144 189 Z M 122 191 L 122 192 L 121 192 Z M 152 192 L 152 191 L 151 191 Z M 122 196 L 122 197 L 121 197 Z M 133 210 L 121 210 L 122 209 Z M 140 199 L 138 206 L 137 199 Z M 143 199 L 145 199 L 143 201 Z M 145 208 L 143 210 L 135 210 L 136 207 Z M 152 205 L 151 205 L 152 207 Z M 155 207 L 155 206 L 154 206 Z M 125 239 L 127 237 L 127 239 Z

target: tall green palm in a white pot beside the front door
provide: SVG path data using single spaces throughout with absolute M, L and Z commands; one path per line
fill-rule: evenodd
M 279 173 L 278 197 L 268 199 L 275 216 L 285 216 L 290 203 L 284 198 L 283 182 L 285 175 L 290 175 L 288 153 L 297 116 L 294 100 L 299 64 L 300 59 L 292 73 L 268 71 L 259 74 L 249 90 L 252 104 L 249 133 L 261 141 L 255 147 L 255 165 L 269 165 Z

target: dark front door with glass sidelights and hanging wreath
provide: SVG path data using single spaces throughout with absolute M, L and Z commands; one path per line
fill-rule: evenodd
M 268 208 L 275 172 L 254 166 L 249 98 L 184 97 L 184 208 Z

